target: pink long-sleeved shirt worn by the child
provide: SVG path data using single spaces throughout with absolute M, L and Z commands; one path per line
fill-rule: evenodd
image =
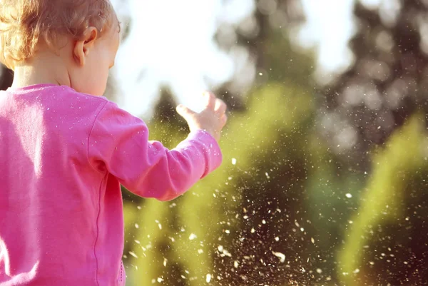
M 0 91 L 0 285 L 125 285 L 120 184 L 172 200 L 221 160 L 205 131 L 168 150 L 103 97 Z

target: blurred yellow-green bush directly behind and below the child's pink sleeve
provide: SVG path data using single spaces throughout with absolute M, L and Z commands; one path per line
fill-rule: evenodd
M 129 247 L 129 251 L 138 258 L 127 255 L 127 264 L 134 265 L 128 270 L 132 280 L 143 285 L 158 278 L 165 283 L 178 280 L 183 285 L 201 285 L 200 281 L 206 280 L 207 275 L 212 275 L 213 282 L 218 280 L 217 276 L 223 279 L 213 267 L 215 257 L 219 255 L 218 247 L 223 245 L 231 254 L 239 254 L 234 253 L 227 242 L 238 238 L 243 227 L 240 220 L 235 220 L 245 197 L 241 187 L 255 183 L 242 183 L 242 178 L 255 165 L 270 160 L 290 160 L 299 156 L 298 153 L 303 155 L 300 149 L 302 141 L 297 138 L 302 140 L 302 134 L 306 132 L 298 132 L 296 126 L 307 125 L 313 110 L 312 98 L 300 88 L 271 83 L 255 91 L 248 103 L 248 111 L 231 116 L 221 142 L 224 163 L 219 170 L 173 203 L 146 200 L 138 212 L 135 205 L 127 204 L 126 216 L 135 218 L 127 220 L 127 229 L 135 223 L 139 226 L 137 231 L 133 231 L 139 243 L 130 241 Z M 174 133 L 173 128 L 165 128 L 168 128 L 170 138 L 181 137 L 176 131 Z M 284 137 L 287 145 L 275 145 Z M 258 188 L 250 185 L 249 191 L 257 192 Z M 138 218 L 135 213 L 138 213 Z M 224 253 L 227 252 L 220 255 Z M 163 265 L 165 261 L 166 267 Z M 167 282 L 170 262 L 188 272 L 181 272 Z

